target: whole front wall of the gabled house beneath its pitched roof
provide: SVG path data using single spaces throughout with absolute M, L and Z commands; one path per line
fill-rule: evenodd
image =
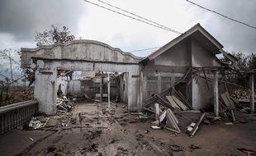
M 142 86 L 143 101 L 168 87 L 168 79 L 170 79 L 170 85 L 173 85 L 190 67 L 221 67 L 221 65 L 216 56 L 196 39 L 184 39 L 153 60 L 145 62 L 145 66 L 142 67 L 145 82 Z M 206 73 L 206 75 L 211 76 L 211 73 Z M 164 84 L 163 80 L 165 80 Z M 213 103 L 212 84 L 209 83 L 208 89 L 206 80 L 193 79 L 192 83 L 185 88 L 187 91 L 184 94 L 194 108 L 205 108 Z

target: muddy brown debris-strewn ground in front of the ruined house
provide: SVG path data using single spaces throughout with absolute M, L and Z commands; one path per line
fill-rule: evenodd
M 77 103 L 70 114 L 50 117 L 40 131 L 10 131 L 0 136 L 4 155 L 246 155 L 237 148 L 256 150 L 256 116 L 247 123 L 226 126 L 201 124 L 193 138 L 186 127 L 201 113 L 184 112 L 178 117 L 181 134 L 150 128 L 151 118 L 137 119 L 123 103 Z M 154 117 L 154 116 L 153 116 Z M 191 149 L 196 145 L 200 149 Z

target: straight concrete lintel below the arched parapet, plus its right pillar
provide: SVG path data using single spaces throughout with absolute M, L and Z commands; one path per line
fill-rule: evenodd
M 119 64 L 110 62 L 81 62 L 69 60 L 37 60 L 38 69 L 47 70 L 75 70 L 75 71 L 107 71 L 126 72 L 128 110 L 139 111 L 142 107 L 142 93 L 140 92 L 140 65 Z M 46 83 L 46 82 L 45 82 Z M 36 90 L 35 90 L 36 91 Z

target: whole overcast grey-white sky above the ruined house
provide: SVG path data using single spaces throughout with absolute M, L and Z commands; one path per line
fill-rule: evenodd
M 90 0 L 102 3 L 97 0 Z M 185 0 L 103 0 L 173 30 L 185 32 L 200 23 L 226 51 L 256 53 L 256 30 Z M 256 25 L 255 0 L 191 0 L 250 25 Z M 83 0 L 0 0 L 0 49 L 36 47 L 36 32 L 52 24 L 65 25 L 83 39 L 102 41 L 123 51 L 163 46 L 178 36 L 125 16 L 117 15 Z M 146 56 L 151 51 L 134 53 Z

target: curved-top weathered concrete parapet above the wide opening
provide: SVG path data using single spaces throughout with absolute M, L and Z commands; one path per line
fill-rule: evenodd
M 138 63 L 142 59 L 102 42 L 82 39 L 40 48 L 21 48 L 21 67 L 30 67 L 31 57 L 119 63 Z

